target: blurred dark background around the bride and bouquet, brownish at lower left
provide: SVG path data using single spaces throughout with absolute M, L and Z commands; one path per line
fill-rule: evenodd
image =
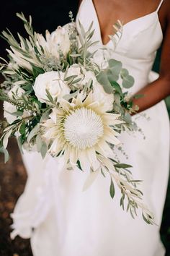
M 32 15 L 33 27 L 36 32 L 45 34 L 45 30 L 50 32 L 55 30 L 58 25 L 69 22 L 68 12 L 71 10 L 76 17 L 78 1 L 25 1 L 25 0 L 6 0 L 1 4 L 0 9 L 0 32 L 6 27 L 14 35 L 19 32 L 26 35 L 22 21 L 16 17 L 16 12 L 23 12 L 26 17 Z M 8 45 L 0 38 L 0 56 L 6 58 Z M 160 63 L 161 49 L 159 49 L 153 70 L 158 72 Z M 2 77 L 0 76 L 0 82 Z M 170 99 L 166 99 L 166 106 L 170 114 Z M 3 116 L 2 104 L 0 105 L 1 119 Z M 30 241 L 17 237 L 10 239 L 10 225 L 12 220 L 9 216 L 14 209 L 17 198 L 24 190 L 27 175 L 22 164 L 22 158 L 17 148 L 17 142 L 13 139 L 9 143 L 9 153 L 11 155 L 8 163 L 4 164 L 3 155 L 0 155 L 0 256 L 31 256 Z M 161 186 L 161 184 L 160 184 Z M 166 246 L 166 256 L 170 256 L 170 184 L 167 192 L 164 207 L 164 216 L 161 225 L 161 239 Z M 152 238 L 151 238 L 152 239 Z M 47 255 L 48 256 L 48 255 Z M 88 255 L 87 255 L 88 256 Z M 107 255 L 106 255 L 107 256 Z M 118 256 L 118 255 L 117 255 Z M 128 255 L 130 256 L 130 255 Z M 138 256 L 138 255 L 136 255 Z

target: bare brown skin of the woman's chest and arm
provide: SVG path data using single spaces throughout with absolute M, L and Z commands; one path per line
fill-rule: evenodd
M 123 24 L 155 12 L 161 0 L 93 0 L 99 19 L 102 43 L 109 41 L 108 35 L 112 34 L 112 25 L 120 20 Z M 81 1 L 80 1 L 81 2 Z M 164 34 L 161 67 L 158 80 L 146 85 L 137 94 L 142 98 L 133 99 L 134 106 L 138 105 L 139 111 L 155 105 L 170 95 L 170 1 L 164 0 L 158 12 L 159 21 Z

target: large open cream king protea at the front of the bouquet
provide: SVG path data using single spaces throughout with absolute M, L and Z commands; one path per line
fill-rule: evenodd
M 78 95 L 71 103 L 61 101 L 61 108 L 54 108 L 50 119 L 45 121 L 44 137 L 50 142 L 49 153 L 53 156 L 63 153 L 65 162 L 75 167 L 77 161 L 84 170 L 96 171 L 101 158 L 112 155 L 107 142 L 120 144 L 114 126 L 121 124 L 120 115 L 107 113 L 104 101 L 97 101 L 89 93 L 85 101 Z

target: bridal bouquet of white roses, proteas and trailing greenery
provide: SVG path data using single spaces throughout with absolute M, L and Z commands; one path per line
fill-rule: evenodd
M 120 205 L 132 217 L 141 208 L 143 219 L 153 223 L 153 215 L 142 201 L 138 180 L 128 170 L 132 167 L 115 160 L 115 147 L 122 131 L 136 129 L 131 121 L 132 103 L 122 88 L 133 86 L 133 77 L 122 63 L 105 60 L 104 68 L 95 61 L 94 30 L 79 23 L 81 35 L 70 13 L 71 22 L 45 37 L 32 29 L 32 19 L 17 14 L 24 22 L 27 39 L 18 34 L 19 43 L 8 30 L 3 38 L 9 43 L 9 61 L 1 58 L 0 99 L 4 101 L 0 150 L 8 160 L 9 137 L 17 137 L 20 150 L 36 150 L 64 158 L 66 168 L 89 171 L 87 189 L 97 174 L 109 175 L 109 193 L 120 188 Z M 117 25 L 117 30 L 119 24 Z M 118 83 L 117 81 L 121 81 Z

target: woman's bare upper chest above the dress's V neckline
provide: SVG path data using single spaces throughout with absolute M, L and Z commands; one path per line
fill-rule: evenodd
M 92 2 L 94 10 L 97 14 L 102 43 L 104 45 L 106 45 L 109 41 L 108 35 L 113 35 L 116 33 L 116 30 L 114 29 L 113 25 L 117 22 L 117 20 L 120 20 L 120 22 L 122 22 L 122 25 L 127 25 L 133 20 L 138 20 L 142 17 L 147 17 L 149 14 L 156 12 L 158 4 L 160 3 L 160 0 L 90 1 Z M 164 28 L 163 11 L 161 11 L 160 14 L 158 14 L 161 29 Z

